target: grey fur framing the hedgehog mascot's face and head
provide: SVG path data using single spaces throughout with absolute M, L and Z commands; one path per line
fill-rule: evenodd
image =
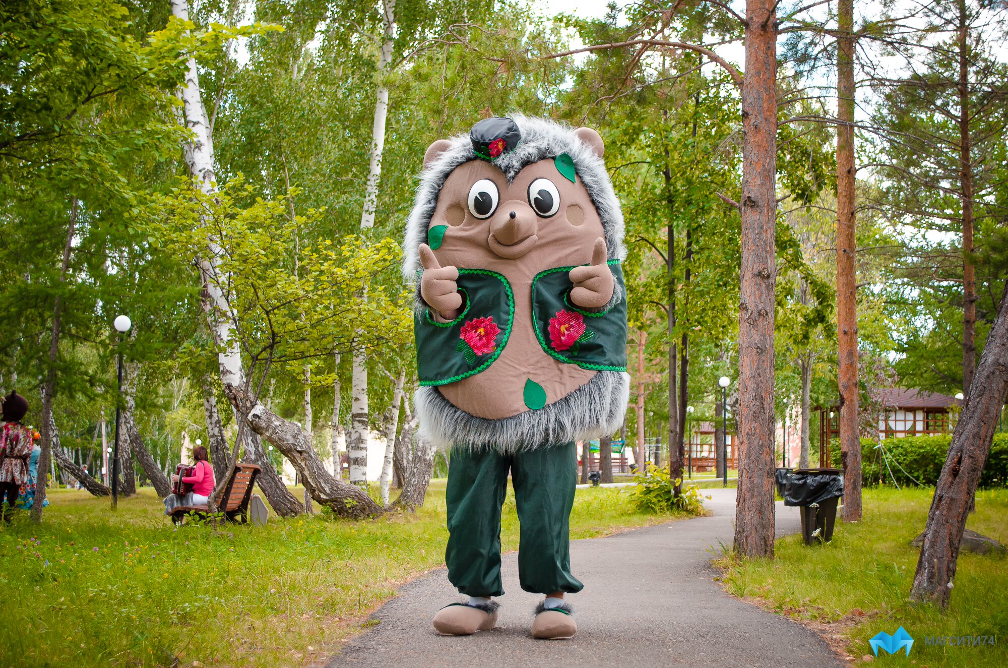
M 592 203 L 595 204 L 605 230 L 609 259 L 623 259 L 623 211 L 606 172 L 606 164 L 591 146 L 575 134 L 574 129 L 544 118 L 530 118 L 520 114 L 512 116 L 521 128 L 522 139 L 513 151 L 498 157 L 496 164 L 508 181 L 532 162 L 566 153 L 574 161 L 578 178 L 585 184 Z M 413 209 L 406 222 L 406 235 L 402 244 L 402 274 L 407 282 L 415 281 L 420 268 L 417 248 L 426 242 L 430 217 L 437 206 L 437 195 L 445 181 L 456 168 L 474 159 L 473 145 L 468 134 L 451 139 L 451 147 L 428 164 L 420 175 Z

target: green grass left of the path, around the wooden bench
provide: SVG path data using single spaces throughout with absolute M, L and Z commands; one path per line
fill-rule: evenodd
M 265 527 L 173 528 L 149 488 L 109 510 L 51 491 L 43 523 L 0 526 L 0 665 L 300 666 L 338 651 L 394 588 L 442 565 L 445 483 L 416 515 L 325 514 Z M 295 494 L 300 497 L 298 488 Z M 572 538 L 667 521 L 623 489 L 579 489 Z M 518 546 L 509 493 L 504 550 Z

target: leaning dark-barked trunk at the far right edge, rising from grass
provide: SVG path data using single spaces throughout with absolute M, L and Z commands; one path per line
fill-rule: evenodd
M 991 452 L 998 417 L 1008 396 L 1008 285 L 998 318 L 987 336 L 970 394 L 949 446 L 941 475 L 927 513 L 924 542 L 910 597 L 948 607 L 956 578 L 959 544 Z

